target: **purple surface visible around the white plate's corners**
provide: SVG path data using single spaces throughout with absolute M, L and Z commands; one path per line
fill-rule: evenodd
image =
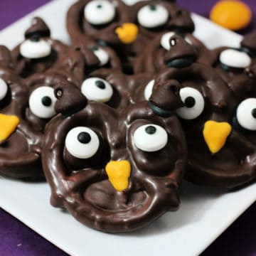
M 0 30 L 49 1 L 0 0 Z M 177 0 L 177 2 L 181 6 L 207 17 L 216 0 Z M 252 24 L 240 33 L 256 30 L 256 1 L 246 0 L 245 3 L 249 4 L 254 17 Z M 4 210 L 0 210 L 0 223 L 1 256 L 65 255 L 64 252 L 41 238 L 40 235 L 34 233 L 33 230 L 27 228 L 26 225 L 23 225 Z M 202 255 L 256 256 L 256 203 L 246 210 L 228 230 L 225 230 Z

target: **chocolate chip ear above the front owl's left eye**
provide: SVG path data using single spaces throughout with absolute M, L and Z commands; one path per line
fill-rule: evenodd
M 71 82 L 59 82 L 56 84 L 54 94 L 57 98 L 55 112 L 61 113 L 63 117 L 69 117 L 87 105 L 87 98 Z

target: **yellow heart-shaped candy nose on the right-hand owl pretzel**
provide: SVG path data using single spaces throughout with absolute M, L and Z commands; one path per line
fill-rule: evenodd
M 207 121 L 203 128 L 203 137 L 210 151 L 215 154 L 225 145 L 232 127 L 227 122 Z

